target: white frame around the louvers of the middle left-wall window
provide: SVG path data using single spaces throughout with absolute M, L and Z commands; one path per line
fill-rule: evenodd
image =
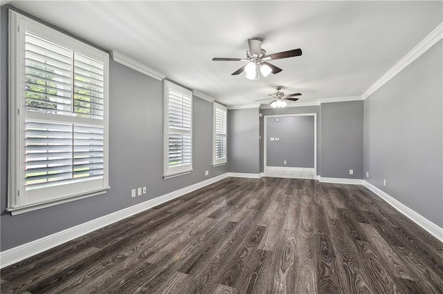
M 181 166 L 169 166 L 168 161 L 168 153 L 169 153 L 169 115 L 168 115 L 168 108 L 169 108 L 169 90 L 176 90 L 177 92 L 182 92 L 187 95 L 190 95 L 191 97 L 191 130 L 187 132 L 191 136 L 191 163 L 190 164 L 183 164 Z M 188 173 L 192 172 L 192 161 L 194 159 L 194 146 L 193 146 L 193 138 L 192 138 L 192 130 L 193 130 L 193 108 L 194 104 L 192 103 L 192 91 L 188 90 L 186 88 L 183 88 L 177 84 L 172 83 L 168 80 L 163 80 L 163 179 L 169 179 L 171 177 L 177 177 L 179 175 L 187 175 Z

